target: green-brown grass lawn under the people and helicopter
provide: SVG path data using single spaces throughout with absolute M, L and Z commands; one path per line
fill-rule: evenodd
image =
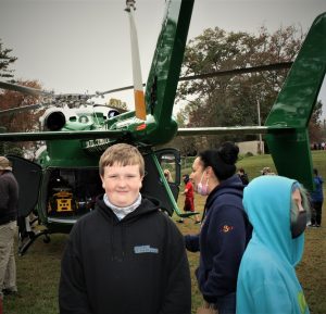
M 313 163 L 326 180 L 326 151 L 314 151 Z M 271 166 L 275 171 L 269 155 L 246 158 L 239 161 L 237 165 L 246 169 L 250 179 L 259 176 L 260 169 L 264 166 Z M 189 168 L 185 168 L 183 172 L 189 173 Z M 324 196 L 326 197 L 326 184 L 324 184 Z M 202 212 L 204 201 L 203 197 L 196 196 L 197 211 Z M 183 208 L 184 196 L 180 196 L 178 204 L 179 208 Z M 297 268 L 311 314 L 326 313 L 326 202 L 324 202 L 323 213 L 322 227 L 309 228 L 305 231 L 304 255 Z M 177 217 L 173 216 L 173 219 L 176 221 Z M 195 225 L 192 219 L 186 219 L 184 224 L 177 224 L 177 226 L 185 235 L 198 233 L 200 228 L 199 225 Z M 49 244 L 38 239 L 26 255 L 16 256 L 20 296 L 4 299 L 3 313 L 59 313 L 60 261 L 66 238 L 66 235 L 53 235 Z M 188 256 L 192 277 L 192 313 L 196 313 L 196 309 L 202 300 L 193 276 L 199 255 L 198 253 L 189 253 Z

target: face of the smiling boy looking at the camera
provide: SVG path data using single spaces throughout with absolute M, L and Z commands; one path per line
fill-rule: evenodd
M 139 165 L 113 164 L 104 167 L 102 187 L 110 202 L 118 208 L 131 205 L 138 198 L 142 177 Z

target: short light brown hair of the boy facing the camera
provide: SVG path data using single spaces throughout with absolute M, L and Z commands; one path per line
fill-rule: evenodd
M 100 176 L 104 175 L 104 167 L 114 164 L 127 166 L 139 165 L 139 173 L 145 175 L 145 161 L 139 150 L 127 143 L 116 143 L 109 147 L 101 155 L 99 162 Z

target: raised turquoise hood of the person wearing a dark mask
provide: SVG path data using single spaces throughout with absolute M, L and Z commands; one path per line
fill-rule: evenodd
M 303 254 L 303 234 L 292 239 L 290 230 L 291 189 L 297 183 L 280 176 L 253 179 L 243 192 L 243 206 L 253 226 L 252 240 L 296 266 Z

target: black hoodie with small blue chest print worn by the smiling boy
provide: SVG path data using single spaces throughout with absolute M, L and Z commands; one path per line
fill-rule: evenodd
M 74 226 L 59 289 L 61 314 L 189 314 L 191 288 L 184 239 L 142 199 L 118 221 L 103 199 Z

